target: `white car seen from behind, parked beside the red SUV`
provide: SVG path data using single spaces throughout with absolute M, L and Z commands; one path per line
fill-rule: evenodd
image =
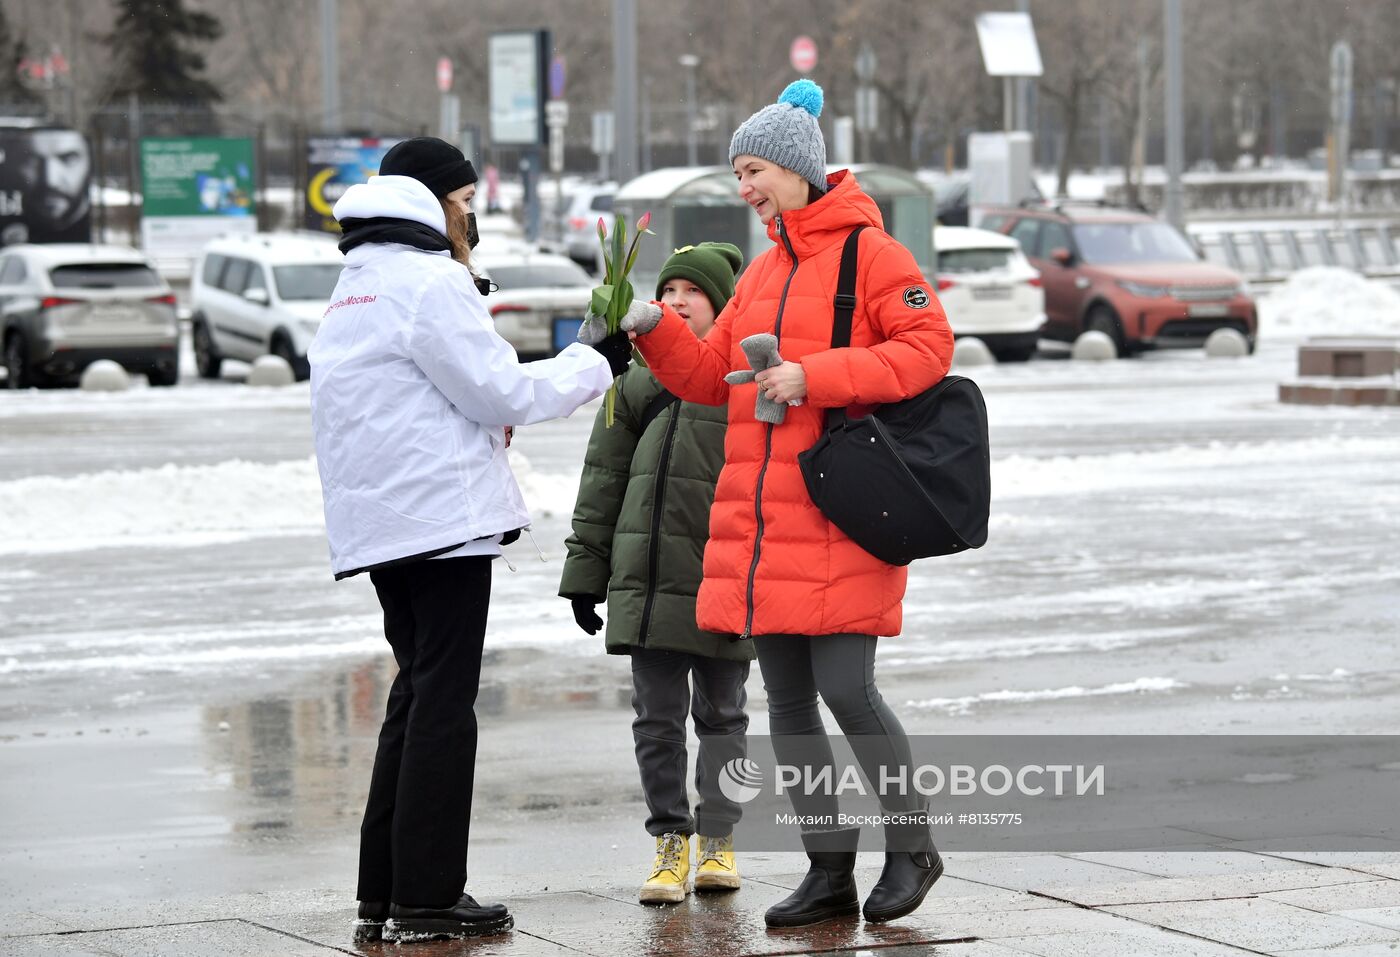
M 953 336 L 976 336 L 1002 361 L 1035 355 L 1046 295 L 1016 241 L 988 229 L 934 227 L 934 255 Z

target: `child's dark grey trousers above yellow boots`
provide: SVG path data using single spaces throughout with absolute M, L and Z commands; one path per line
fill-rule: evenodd
M 694 679 L 694 690 L 690 681 Z M 749 662 L 729 662 L 685 652 L 631 649 L 631 707 L 637 718 L 631 736 L 637 770 L 647 798 L 647 832 L 668 831 L 725 837 L 739 820 L 739 806 L 720 793 L 720 768 L 746 754 L 749 701 L 743 683 Z M 700 803 L 690 816 L 686 791 L 686 712 L 700 739 L 696 792 Z

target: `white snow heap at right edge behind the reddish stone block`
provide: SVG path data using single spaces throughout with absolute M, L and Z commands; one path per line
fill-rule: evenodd
M 1400 336 L 1400 292 L 1350 269 L 1301 269 L 1259 301 L 1261 336 Z

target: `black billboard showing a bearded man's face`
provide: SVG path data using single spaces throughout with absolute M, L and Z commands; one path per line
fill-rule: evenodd
M 0 246 L 92 239 L 92 151 L 67 127 L 0 127 Z

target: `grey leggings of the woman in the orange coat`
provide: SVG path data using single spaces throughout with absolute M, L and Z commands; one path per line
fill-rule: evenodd
M 816 708 L 820 695 L 872 788 L 885 779 L 882 768 L 892 768 L 892 775 L 910 774 L 909 736 L 875 687 L 875 641 L 874 635 L 755 638 L 769 694 L 769 730 L 780 763 L 818 770 L 832 764 L 832 744 Z M 834 820 L 840 810 L 834 795 L 806 795 L 801 788 L 790 788 L 788 795 L 792 810 L 802 816 Z M 881 796 L 881 804 L 890 811 L 909 811 L 924 802 L 910 789 L 907 795 Z

